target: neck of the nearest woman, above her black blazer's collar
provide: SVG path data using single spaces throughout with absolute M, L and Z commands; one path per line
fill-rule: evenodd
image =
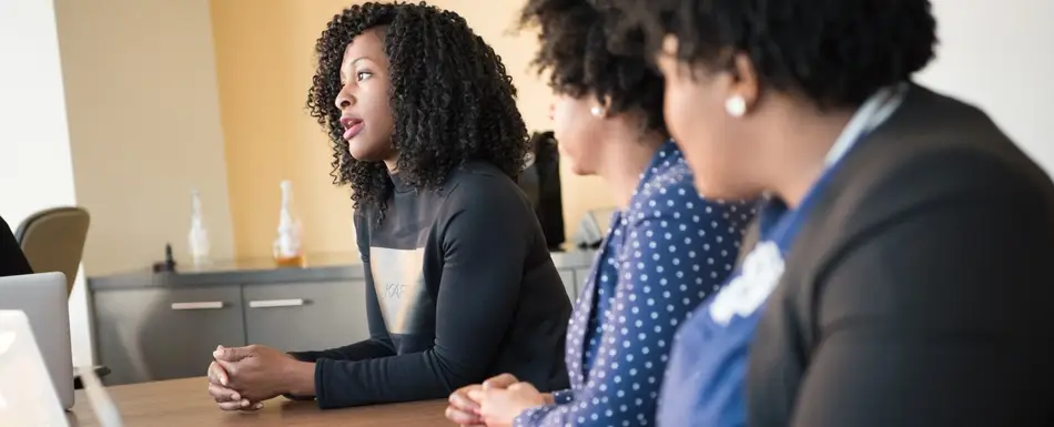
M 827 169 L 827 155 L 834 141 L 845 129 L 853 110 L 818 112 L 817 110 L 795 110 L 788 113 L 782 123 L 774 125 L 773 141 L 776 150 L 769 159 L 767 187 L 773 190 L 791 209 L 797 209 Z M 787 130 L 793 129 L 793 132 Z

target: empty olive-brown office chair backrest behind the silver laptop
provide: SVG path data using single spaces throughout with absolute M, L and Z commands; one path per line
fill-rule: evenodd
M 36 273 L 65 274 L 67 295 L 80 268 L 91 218 L 82 207 L 63 206 L 30 215 L 14 232 L 26 260 Z

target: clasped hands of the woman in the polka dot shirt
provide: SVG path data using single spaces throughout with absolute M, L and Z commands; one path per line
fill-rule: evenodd
M 450 395 L 447 419 L 462 426 L 511 426 L 524 410 L 551 405 L 553 395 L 538 392 L 510 374 L 465 386 Z

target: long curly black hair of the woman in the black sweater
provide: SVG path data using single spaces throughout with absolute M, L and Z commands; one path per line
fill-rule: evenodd
M 516 180 L 528 135 L 501 58 L 457 13 L 424 2 L 367 2 L 335 16 L 318 38 L 307 94 L 311 115 L 333 142 L 333 182 L 351 184 L 354 207 L 376 205 L 383 217 L 393 190 L 383 162 L 352 157 L 333 102 L 347 44 L 375 27 L 385 28 L 399 179 L 417 190 L 438 189 L 462 163 L 483 160 Z

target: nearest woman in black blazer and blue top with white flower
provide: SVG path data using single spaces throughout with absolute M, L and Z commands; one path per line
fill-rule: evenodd
M 678 331 L 660 425 L 1054 421 L 1054 184 L 912 82 L 929 0 L 618 1 L 698 190 L 768 195 L 742 268 Z

